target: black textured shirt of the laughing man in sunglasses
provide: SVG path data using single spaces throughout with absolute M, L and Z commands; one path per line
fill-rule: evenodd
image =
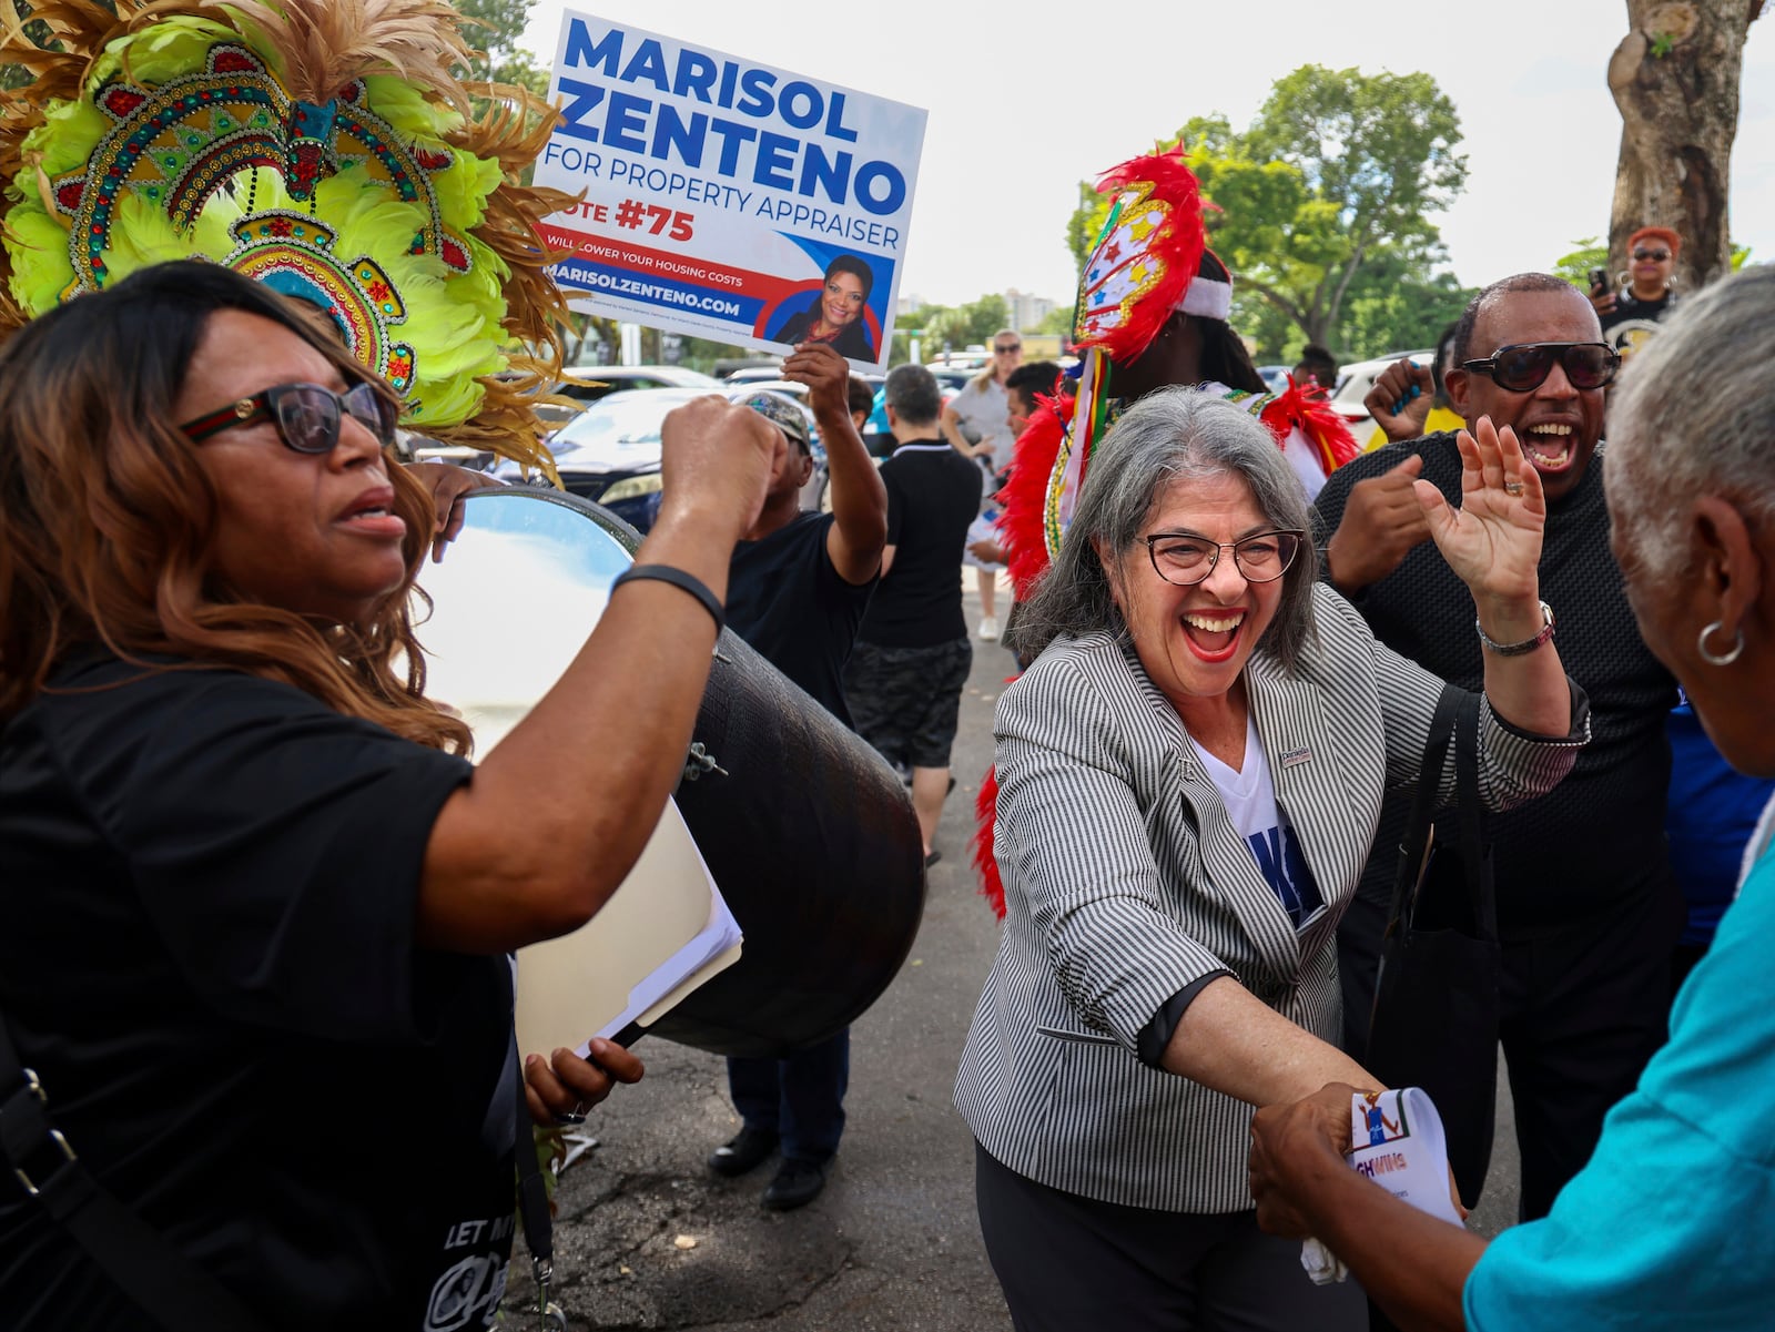
M 1424 479 L 1450 504 L 1461 502 L 1461 454 L 1454 435 L 1392 443 L 1331 474 L 1315 509 L 1329 539 L 1351 486 L 1424 458 Z M 1608 550 L 1605 459 L 1598 447 L 1578 486 L 1548 505 L 1541 552 L 1541 598 L 1557 617 L 1555 644 L 1566 674 L 1590 695 L 1590 743 L 1551 795 L 1491 821 L 1498 928 L 1521 936 L 1537 928 L 1606 910 L 1670 883 L 1663 816 L 1670 784 L 1665 717 L 1676 679 L 1640 640 L 1621 569 Z M 1473 630 L 1473 598 L 1425 541 L 1386 578 L 1351 598 L 1381 642 L 1470 690 L 1484 685 Z M 1381 811 L 1374 853 L 1360 892 L 1392 894 L 1409 791 Z

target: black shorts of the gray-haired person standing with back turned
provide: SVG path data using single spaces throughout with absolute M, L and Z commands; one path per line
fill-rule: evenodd
M 845 667 L 850 725 L 888 763 L 948 768 L 973 663 L 974 646 L 967 639 L 935 647 L 859 642 Z

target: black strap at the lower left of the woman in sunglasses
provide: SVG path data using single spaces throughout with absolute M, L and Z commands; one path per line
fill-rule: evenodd
M 167 1332 L 263 1332 L 222 1282 L 105 1188 L 50 1119 L 37 1075 L 23 1066 L 0 1013 L 0 1151 L 23 1190 L 43 1204 L 117 1288 Z M 78 1321 L 78 1320 L 75 1320 Z

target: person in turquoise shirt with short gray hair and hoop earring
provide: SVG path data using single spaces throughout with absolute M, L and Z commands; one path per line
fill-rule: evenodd
M 1752 777 L 1775 777 L 1770 309 L 1768 264 L 1684 303 L 1622 374 L 1606 456 L 1640 635 Z M 1700 381 L 1720 392 L 1686 392 Z M 1775 1325 L 1775 851 L 1752 855 L 1677 995 L 1670 1043 L 1548 1217 L 1487 1245 L 1400 1203 L 1344 1162 L 1353 1089 L 1331 1085 L 1251 1124 L 1258 1224 L 1317 1236 L 1408 1330 Z

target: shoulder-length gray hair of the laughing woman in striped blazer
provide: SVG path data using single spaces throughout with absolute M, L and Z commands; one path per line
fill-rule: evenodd
M 1060 555 L 1019 615 L 1019 651 L 1035 656 L 1054 639 L 1097 631 L 1127 642 L 1127 623 L 1097 559 L 1097 543 L 1125 555 L 1166 486 L 1225 475 L 1244 479 L 1266 521 L 1308 534 L 1283 575 L 1276 617 L 1257 644 L 1257 651 L 1269 653 L 1294 674 L 1301 654 L 1317 642 L 1319 552 L 1306 493 L 1260 420 L 1235 403 L 1191 387 L 1147 394 L 1099 442 Z

